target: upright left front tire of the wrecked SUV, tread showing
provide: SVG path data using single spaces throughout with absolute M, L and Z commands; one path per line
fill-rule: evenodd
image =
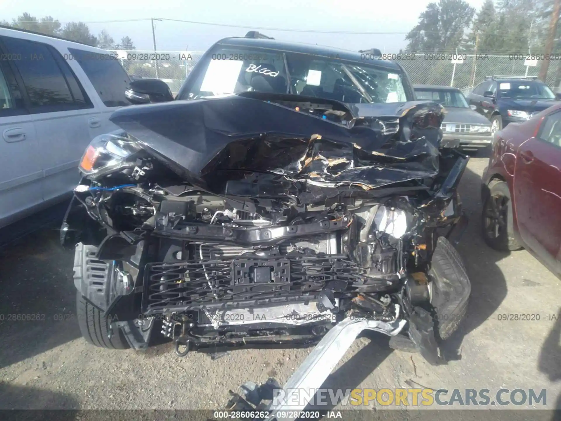
M 80 291 L 76 291 L 76 315 L 82 336 L 90 344 L 109 349 L 130 348 L 121 330 L 116 330 L 118 333 L 109 338 L 108 331 L 111 321 L 104 312 L 88 303 Z

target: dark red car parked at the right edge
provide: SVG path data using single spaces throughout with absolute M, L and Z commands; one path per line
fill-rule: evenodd
M 487 244 L 526 248 L 561 278 L 561 104 L 496 133 L 481 197 Z

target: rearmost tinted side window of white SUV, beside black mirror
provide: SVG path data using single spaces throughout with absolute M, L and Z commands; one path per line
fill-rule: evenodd
M 117 58 L 111 54 L 92 53 L 68 48 L 74 60 L 84 69 L 106 107 L 128 106 L 125 90 L 130 78 Z

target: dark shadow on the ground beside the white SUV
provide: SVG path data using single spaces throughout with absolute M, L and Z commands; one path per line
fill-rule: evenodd
M 43 228 L 0 251 L 0 367 L 80 337 L 73 253 Z

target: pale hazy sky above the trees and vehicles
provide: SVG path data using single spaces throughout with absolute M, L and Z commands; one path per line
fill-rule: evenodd
M 467 0 L 478 10 L 484 0 Z M 261 30 L 277 39 L 331 45 L 352 50 L 379 48 L 398 52 L 405 47 L 403 34 L 416 25 L 430 0 L 336 1 L 336 0 L 0 0 L 0 19 L 11 21 L 23 12 L 38 18 L 52 16 L 69 21 L 118 21 L 160 17 L 245 28 L 210 26 L 183 22 L 155 23 L 158 51 L 190 49 L 204 51 L 226 36 L 243 36 L 256 27 L 332 31 L 375 31 L 393 34 L 326 34 Z M 139 22 L 88 23 L 97 35 L 107 29 L 117 42 L 132 38 L 137 49 L 153 49 L 150 20 Z

